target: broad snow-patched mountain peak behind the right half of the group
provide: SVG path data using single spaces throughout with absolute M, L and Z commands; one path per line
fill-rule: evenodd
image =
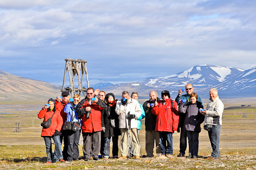
M 184 72 L 165 77 L 148 77 L 142 84 L 156 88 L 184 88 L 188 83 L 196 88 L 207 88 L 236 77 L 244 70 L 216 65 L 196 65 Z

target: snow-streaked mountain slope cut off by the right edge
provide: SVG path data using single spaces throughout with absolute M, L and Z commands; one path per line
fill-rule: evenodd
M 256 67 L 217 85 L 219 93 L 232 97 L 251 97 L 256 94 Z

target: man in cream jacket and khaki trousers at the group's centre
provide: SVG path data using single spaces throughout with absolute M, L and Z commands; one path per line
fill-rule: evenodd
M 115 107 L 115 113 L 119 115 L 119 128 L 121 129 L 121 157 L 119 159 L 125 159 L 128 154 L 128 132 L 130 131 L 130 140 L 132 152 L 135 155 L 135 159 L 140 159 L 139 151 L 140 145 L 137 135 L 137 119 L 141 116 L 142 110 L 137 100 L 130 97 L 129 92 L 122 92 L 122 99 L 117 101 Z M 129 121 L 130 127 L 129 127 Z M 129 155 L 130 156 L 130 155 Z

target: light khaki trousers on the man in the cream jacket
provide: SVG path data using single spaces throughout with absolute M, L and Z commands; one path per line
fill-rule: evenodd
M 128 129 L 127 128 L 121 128 L 121 155 L 127 156 L 129 144 L 128 144 Z M 130 130 L 130 140 L 131 140 L 131 153 L 134 154 L 134 156 L 139 156 L 139 151 L 141 149 L 141 146 L 139 145 L 139 139 L 137 137 L 137 128 L 131 128 Z M 130 155 L 129 155 L 130 156 Z

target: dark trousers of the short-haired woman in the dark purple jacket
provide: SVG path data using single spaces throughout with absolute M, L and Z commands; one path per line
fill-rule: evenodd
M 199 147 L 199 131 L 187 131 L 188 135 L 188 148 L 189 155 L 198 156 L 198 147 Z

